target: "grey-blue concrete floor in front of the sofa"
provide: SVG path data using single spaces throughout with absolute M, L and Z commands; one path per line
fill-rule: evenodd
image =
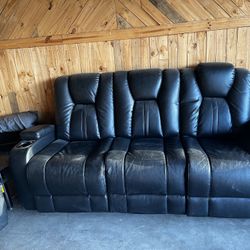
M 250 219 L 9 212 L 1 250 L 250 249 Z

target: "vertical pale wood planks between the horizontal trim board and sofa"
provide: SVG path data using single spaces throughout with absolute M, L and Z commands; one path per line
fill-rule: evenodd
M 250 69 L 250 27 L 107 42 L 0 50 L 0 115 L 38 110 L 53 121 L 54 79 L 64 74 L 194 66 Z

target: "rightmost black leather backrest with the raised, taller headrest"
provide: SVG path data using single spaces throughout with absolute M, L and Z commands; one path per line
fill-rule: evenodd
M 218 136 L 250 120 L 250 75 L 229 63 L 181 71 L 181 133 Z

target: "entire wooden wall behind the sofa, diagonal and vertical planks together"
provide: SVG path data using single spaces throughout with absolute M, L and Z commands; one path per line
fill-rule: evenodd
M 53 121 L 61 75 L 208 61 L 250 69 L 249 0 L 178 3 L 0 1 L 0 115 L 38 110 Z

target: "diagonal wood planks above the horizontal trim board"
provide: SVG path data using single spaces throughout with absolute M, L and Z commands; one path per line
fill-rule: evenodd
M 0 40 L 32 42 L 32 39 L 57 35 L 75 38 L 86 32 L 249 15 L 249 0 L 1 0 Z

